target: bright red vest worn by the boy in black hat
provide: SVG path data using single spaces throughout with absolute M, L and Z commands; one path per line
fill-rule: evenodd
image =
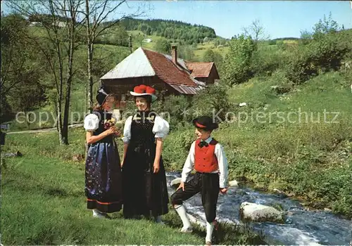
M 199 172 L 212 172 L 218 170 L 218 159 L 215 155 L 215 145 L 218 143 L 214 138 L 208 146 L 199 147 L 201 139 L 196 141 L 194 155 L 194 169 Z

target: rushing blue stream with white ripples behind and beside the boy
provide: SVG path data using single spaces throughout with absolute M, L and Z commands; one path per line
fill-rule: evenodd
M 173 179 L 180 173 L 167 173 L 168 191 Z M 264 240 L 270 245 L 350 245 L 352 221 L 341 219 L 332 212 L 322 210 L 307 211 L 296 200 L 284 198 L 279 194 L 260 193 L 248 187 L 230 187 L 226 195 L 219 195 L 217 219 L 219 222 L 241 224 L 239 206 L 242 202 L 260 205 L 279 205 L 285 213 L 285 223 L 256 222 L 250 226 L 256 233 L 263 233 Z M 205 225 L 206 217 L 201 205 L 200 194 L 184 202 L 187 213 Z

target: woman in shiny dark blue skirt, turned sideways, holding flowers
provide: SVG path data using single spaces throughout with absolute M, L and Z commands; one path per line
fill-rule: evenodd
M 106 120 L 112 118 L 111 108 L 115 101 L 112 94 L 101 87 L 96 95 L 98 105 L 92 114 L 84 118 L 86 141 L 89 150 L 85 168 L 85 193 L 87 208 L 93 216 L 105 218 L 106 213 L 118 212 L 122 208 L 122 177 L 118 148 L 114 135 L 118 130 Z

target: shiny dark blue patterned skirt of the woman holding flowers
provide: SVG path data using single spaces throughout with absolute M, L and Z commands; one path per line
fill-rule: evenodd
M 89 146 L 85 168 L 87 208 L 118 212 L 122 208 L 120 157 L 115 142 Z

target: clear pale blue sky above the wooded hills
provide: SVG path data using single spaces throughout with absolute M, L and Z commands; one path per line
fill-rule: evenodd
M 2 1 L 4 3 L 4 1 Z M 113 1 L 112 1 L 113 2 Z M 142 1 L 127 1 L 119 13 L 132 13 Z M 145 4 L 145 2 L 143 3 Z M 315 23 L 332 13 L 332 19 L 345 29 L 352 28 L 350 1 L 148 1 L 146 14 L 139 18 L 180 20 L 212 27 L 220 37 L 230 39 L 259 20 L 270 39 L 300 37 Z M 6 11 L 6 6 L 3 10 Z M 111 18 L 119 18 L 118 13 Z

